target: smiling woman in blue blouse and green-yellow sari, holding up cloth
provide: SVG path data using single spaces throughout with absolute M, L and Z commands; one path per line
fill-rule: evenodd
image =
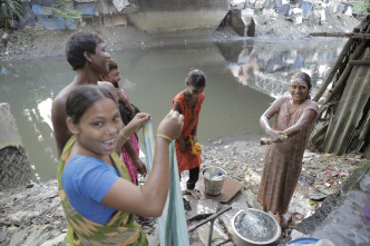
M 123 128 L 117 100 L 100 86 L 79 86 L 66 102 L 74 136 L 58 164 L 58 189 L 69 228 L 66 245 L 148 245 L 135 215 L 160 216 L 169 187 L 169 144 L 183 116 L 171 111 L 157 128 L 153 169 L 135 186 L 115 152 L 118 136 L 132 136 L 147 121 L 138 112 Z M 124 141 L 126 138 L 121 138 Z M 150 206 L 148 206 L 150 205 Z

